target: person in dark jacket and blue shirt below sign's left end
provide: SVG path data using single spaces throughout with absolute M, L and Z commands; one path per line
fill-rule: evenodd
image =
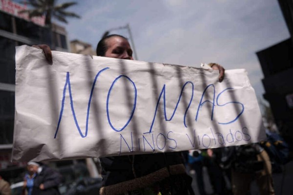
M 58 186 L 62 176 L 57 171 L 40 162 L 28 162 L 30 172 L 36 173 L 31 195 L 60 195 Z

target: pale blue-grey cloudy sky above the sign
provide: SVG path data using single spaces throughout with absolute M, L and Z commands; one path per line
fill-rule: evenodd
M 63 3 L 71 0 L 58 0 Z M 77 1 L 77 0 L 76 0 Z M 264 78 L 256 52 L 290 37 L 277 0 L 79 0 L 81 19 L 61 23 L 69 40 L 96 48 L 105 31 L 128 23 L 138 60 L 245 68 L 257 97 Z M 112 30 L 129 38 L 126 29 Z

